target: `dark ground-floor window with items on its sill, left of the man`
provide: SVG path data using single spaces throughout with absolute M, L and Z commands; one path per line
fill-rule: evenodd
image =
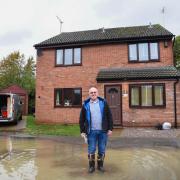
M 54 90 L 55 107 L 80 107 L 81 88 L 57 88 Z

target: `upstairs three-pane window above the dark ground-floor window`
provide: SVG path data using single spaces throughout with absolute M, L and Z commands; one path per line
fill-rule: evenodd
M 81 48 L 56 50 L 56 66 L 80 65 L 81 59 Z

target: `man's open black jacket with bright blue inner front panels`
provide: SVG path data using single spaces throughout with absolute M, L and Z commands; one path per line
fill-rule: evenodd
M 105 99 L 98 97 L 99 105 L 102 115 L 102 130 L 108 131 L 113 129 L 113 120 L 111 110 Z M 90 98 L 84 101 L 81 109 L 79 125 L 80 132 L 89 134 L 91 131 L 91 112 L 90 112 Z

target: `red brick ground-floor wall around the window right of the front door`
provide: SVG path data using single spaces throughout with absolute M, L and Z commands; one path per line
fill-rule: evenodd
M 173 90 L 174 82 L 146 81 L 140 83 L 149 83 L 149 82 L 165 83 L 166 107 L 132 109 L 129 108 L 129 105 L 123 103 L 122 109 L 123 109 L 124 126 L 155 126 L 157 125 L 157 123 L 163 123 L 167 121 L 174 124 L 174 90 Z M 123 102 L 125 101 L 129 101 L 129 96 L 123 97 Z

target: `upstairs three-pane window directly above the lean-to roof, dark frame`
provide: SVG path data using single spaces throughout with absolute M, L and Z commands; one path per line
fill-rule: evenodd
M 149 62 L 159 60 L 159 45 L 153 43 L 129 44 L 129 62 Z

